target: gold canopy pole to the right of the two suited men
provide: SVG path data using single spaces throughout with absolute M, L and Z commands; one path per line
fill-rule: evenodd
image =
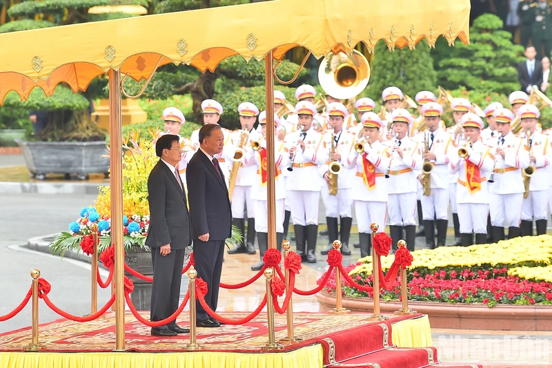
M 276 248 L 276 186 L 274 157 L 274 55 L 270 50 L 264 57 L 266 87 L 266 200 L 268 210 L 268 248 Z

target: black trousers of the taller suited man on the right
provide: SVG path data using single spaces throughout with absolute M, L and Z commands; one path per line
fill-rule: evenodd
M 201 242 L 199 239 L 194 239 L 194 260 L 197 278 L 201 278 L 207 282 L 207 295 L 205 302 L 213 309 L 217 310 L 219 302 L 219 285 L 220 276 L 222 273 L 222 258 L 224 256 L 224 240 L 209 240 Z M 182 272 L 182 270 L 180 270 Z M 196 301 L 196 318 L 198 321 L 207 320 L 208 313 L 205 311 L 199 300 Z

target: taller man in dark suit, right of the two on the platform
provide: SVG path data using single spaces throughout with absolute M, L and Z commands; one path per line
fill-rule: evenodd
M 186 168 L 188 198 L 192 216 L 192 235 L 197 277 L 208 284 L 205 301 L 217 310 L 219 284 L 224 257 L 224 242 L 230 237 L 232 210 L 228 188 L 219 162 L 213 156 L 222 152 L 224 136 L 218 124 L 207 124 L 199 130 L 199 150 Z M 220 327 L 196 303 L 197 327 Z

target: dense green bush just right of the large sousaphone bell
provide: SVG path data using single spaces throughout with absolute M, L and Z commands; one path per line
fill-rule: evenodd
M 426 41 L 417 44 L 414 50 L 388 50 L 384 41 L 377 43 L 371 65 L 372 75 L 368 84 L 368 97 L 381 101 L 382 90 L 395 86 L 403 93 L 414 97 L 420 90 L 433 90 L 437 75 Z

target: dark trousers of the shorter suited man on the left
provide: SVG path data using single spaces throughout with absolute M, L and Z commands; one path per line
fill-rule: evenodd
M 153 284 L 150 319 L 152 321 L 160 321 L 170 317 L 179 307 L 184 253 L 184 249 L 174 249 L 168 255 L 161 255 L 159 248 L 151 249 Z M 176 319 L 166 325 L 155 327 L 155 329 L 170 329 L 175 325 Z

